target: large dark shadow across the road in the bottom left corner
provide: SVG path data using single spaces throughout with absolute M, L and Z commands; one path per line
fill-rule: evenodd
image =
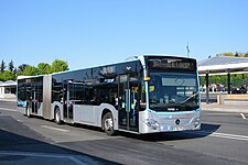
M 24 165 L 37 162 L 39 164 L 119 165 L 116 162 L 57 146 L 43 140 L 15 134 L 0 128 L 0 164 Z

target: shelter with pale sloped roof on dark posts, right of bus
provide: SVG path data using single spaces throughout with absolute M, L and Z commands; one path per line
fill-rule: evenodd
M 205 76 L 206 84 L 206 103 L 209 99 L 208 76 L 227 75 L 227 91 L 230 94 L 230 74 L 248 73 L 247 57 L 216 56 L 198 62 L 200 76 Z

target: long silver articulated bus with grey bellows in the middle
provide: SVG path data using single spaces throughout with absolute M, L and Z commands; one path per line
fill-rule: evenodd
M 18 78 L 23 114 L 138 134 L 201 129 L 193 58 L 142 55 L 98 67 Z

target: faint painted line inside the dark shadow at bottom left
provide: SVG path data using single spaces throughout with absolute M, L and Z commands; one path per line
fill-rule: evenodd
M 67 155 L 58 155 L 58 154 L 45 154 L 45 153 L 31 153 L 31 152 L 6 152 L 6 151 L 1 151 L 0 155 L 19 155 L 19 156 L 33 156 L 33 157 L 50 157 L 50 158 L 68 158 L 71 161 L 73 161 L 74 163 L 78 164 L 78 165 L 86 165 L 86 163 L 75 158 L 73 155 L 72 156 L 67 156 Z M 84 158 L 87 158 L 86 156 L 84 156 Z

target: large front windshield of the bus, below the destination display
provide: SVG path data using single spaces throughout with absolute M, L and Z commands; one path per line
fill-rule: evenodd
M 149 105 L 154 111 L 191 111 L 200 108 L 195 74 L 150 73 Z

